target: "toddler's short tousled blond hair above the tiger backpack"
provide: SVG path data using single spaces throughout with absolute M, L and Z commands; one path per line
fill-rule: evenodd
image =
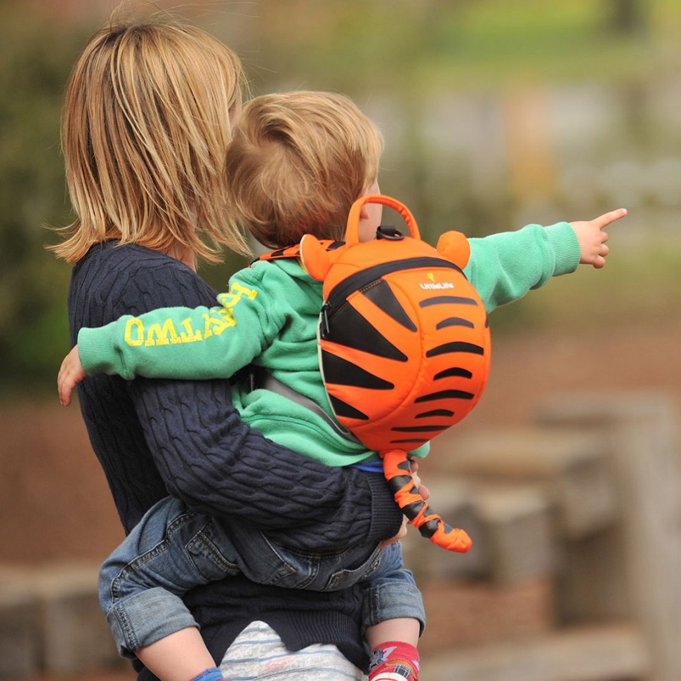
M 348 211 L 378 177 L 383 138 L 350 99 L 296 91 L 244 106 L 225 164 L 232 215 L 269 248 L 310 232 L 343 239 Z

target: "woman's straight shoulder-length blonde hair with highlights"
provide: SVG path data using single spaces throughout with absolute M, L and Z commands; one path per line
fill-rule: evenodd
M 72 263 L 119 239 L 218 260 L 208 237 L 247 253 L 223 182 L 242 86 L 237 55 L 200 29 L 112 16 L 68 84 L 62 150 L 76 219 L 53 251 Z

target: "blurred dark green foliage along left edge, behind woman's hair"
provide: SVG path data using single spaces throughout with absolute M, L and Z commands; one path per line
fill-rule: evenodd
M 0 10 L 0 385 L 53 386 L 68 350 L 70 268 L 44 246 L 68 207 L 60 155 L 73 29 Z

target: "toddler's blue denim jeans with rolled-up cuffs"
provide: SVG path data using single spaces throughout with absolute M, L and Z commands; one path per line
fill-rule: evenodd
M 296 550 L 238 522 L 194 513 L 167 497 L 147 511 L 100 570 L 99 597 L 121 655 L 198 624 L 182 596 L 242 573 L 284 588 L 342 590 L 362 582 L 362 625 L 409 617 L 425 626 L 421 593 L 399 542 L 338 553 Z

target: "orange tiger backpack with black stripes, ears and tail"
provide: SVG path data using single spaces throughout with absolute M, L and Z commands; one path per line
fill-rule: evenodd
M 376 239 L 359 242 L 359 214 L 370 202 L 397 211 L 411 235 L 379 227 Z M 489 326 L 463 274 L 468 240 L 446 232 L 432 248 L 411 211 L 383 194 L 355 201 L 345 239 L 334 248 L 305 234 L 299 246 L 305 269 L 324 282 L 319 366 L 329 402 L 338 422 L 381 455 L 397 503 L 421 534 L 465 553 L 468 534 L 418 494 L 407 452 L 470 414 L 487 383 Z

